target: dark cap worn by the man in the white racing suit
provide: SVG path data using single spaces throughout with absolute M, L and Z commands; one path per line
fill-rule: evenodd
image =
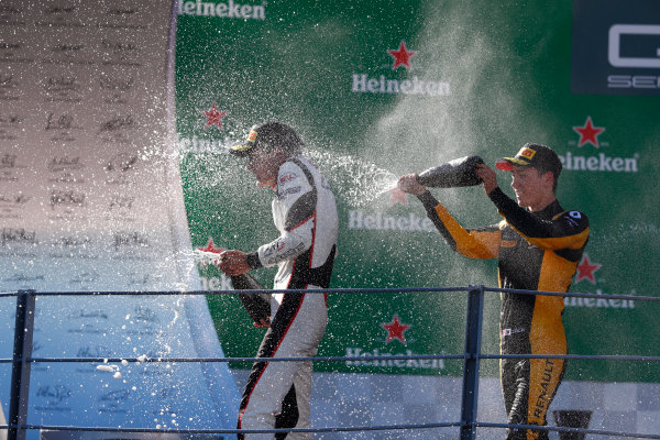
M 289 125 L 282 122 L 265 122 L 253 125 L 245 141 L 230 147 L 230 153 L 244 157 L 255 148 L 266 150 L 280 146 L 289 154 L 296 154 L 302 146 L 302 141 Z

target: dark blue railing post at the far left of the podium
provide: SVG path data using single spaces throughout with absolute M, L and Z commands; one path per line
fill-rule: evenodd
M 34 290 L 19 290 L 14 324 L 13 362 L 11 366 L 11 396 L 9 400 L 8 440 L 24 440 L 28 421 L 28 396 L 32 337 L 34 333 Z

